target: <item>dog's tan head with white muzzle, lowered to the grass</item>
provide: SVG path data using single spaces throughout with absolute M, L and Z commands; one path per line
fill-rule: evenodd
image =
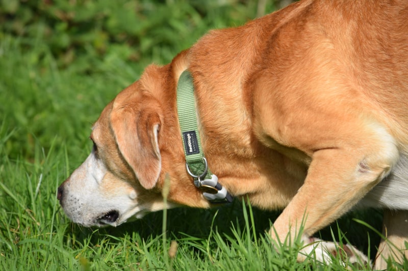
M 172 77 L 170 67 L 150 66 L 105 107 L 91 154 L 58 189 L 73 222 L 116 226 L 163 209 L 166 177 L 170 207 L 208 205 L 185 173 Z

